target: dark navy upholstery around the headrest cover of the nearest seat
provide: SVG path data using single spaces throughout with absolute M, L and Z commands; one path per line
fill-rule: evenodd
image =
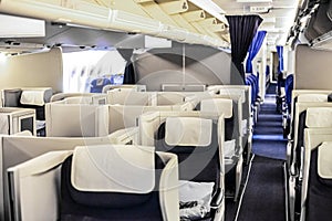
M 61 169 L 61 221 L 162 221 L 159 206 L 162 159 L 155 155 L 155 190 L 149 193 L 90 192 L 76 190 L 71 183 L 72 156 Z

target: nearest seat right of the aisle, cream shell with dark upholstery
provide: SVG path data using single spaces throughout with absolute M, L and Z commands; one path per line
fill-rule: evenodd
M 332 128 L 305 129 L 301 221 L 331 220 Z

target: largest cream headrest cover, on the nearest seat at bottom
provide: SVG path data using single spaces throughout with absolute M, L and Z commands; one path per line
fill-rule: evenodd
M 154 147 L 76 147 L 73 152 L 71 182 L 81 191 L 148 193 L 155 187 Z

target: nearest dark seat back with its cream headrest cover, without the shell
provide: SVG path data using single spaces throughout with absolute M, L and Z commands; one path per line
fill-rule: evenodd
M 153 147 L 76 147 L 62 166 L 61 220 L 163 220 L 164 168 Z

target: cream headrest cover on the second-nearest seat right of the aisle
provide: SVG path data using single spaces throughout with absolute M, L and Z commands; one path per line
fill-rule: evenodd
M 307 109 L 305 125 L 312 127 L 332 127 L 331 107 L 310 107 Z

